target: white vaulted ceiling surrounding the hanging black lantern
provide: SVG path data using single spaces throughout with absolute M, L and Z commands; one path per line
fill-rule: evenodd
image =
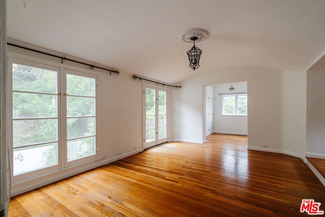
M 302 71 L 325 50 L 324 0 L 9 0 L 9 42 L 168 83 L 224 67 Z M 200 68 L 185 30 L 205 28 Z

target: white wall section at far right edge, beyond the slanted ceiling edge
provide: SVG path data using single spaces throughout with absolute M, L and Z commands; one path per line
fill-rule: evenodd
M 325 56 L 307 71 L 307 156 L 325 159 L 325 64 L 321 62 Z

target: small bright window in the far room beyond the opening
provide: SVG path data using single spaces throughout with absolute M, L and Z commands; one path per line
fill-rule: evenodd
M 247 94 L 222 95 L 223 115 L 247 115 Z

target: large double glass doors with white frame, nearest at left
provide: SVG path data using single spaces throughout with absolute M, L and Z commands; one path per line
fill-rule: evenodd
M 13 182 L 98 158 L 96 76 L 8 58 Z

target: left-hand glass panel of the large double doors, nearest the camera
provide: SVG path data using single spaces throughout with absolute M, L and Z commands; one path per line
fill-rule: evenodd
M 30 65 L 29 65 L 30 64 Z M 58 169 L 58 68 L 10 60 L 14 182 Z M 36 67 L 37 66 L 37 67 Z M 9 70 L 9 72 L 10 72 Z M 55 166 L 55 167 L 54 167 Z

